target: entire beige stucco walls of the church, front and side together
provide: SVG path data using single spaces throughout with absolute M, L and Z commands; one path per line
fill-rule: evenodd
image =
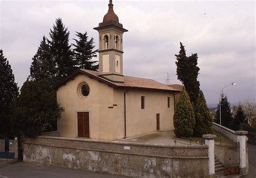
M 79 84 L 82 82 L 90 87 L 86 97 L 80 96 Z M 145 96 L 144 109 L 141 109 L 141 96 Z M 59 136 L 78 137 L 77 112 L 89 112 L 92 139 L 121 139 L 125 137 L 125 130 L 126 137 L 156 132 L 157 113 L 160 116 L 160 130 L 172 129 L 173 96 L 173 91 L 115 88 L 78 74 L 57 90 L 57 101 L 65 109 L 58 119 Z M 167 107 L 168 97 L 170 108 Z

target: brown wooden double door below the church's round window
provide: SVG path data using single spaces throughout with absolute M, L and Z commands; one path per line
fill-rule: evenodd
M 77 112 L 78 137 L 90 138 L 89 112 Z

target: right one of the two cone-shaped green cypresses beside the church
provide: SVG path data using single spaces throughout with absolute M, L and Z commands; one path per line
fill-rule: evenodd
M 212 115 L 207 107 L 203 91 L 200 90 L 197 99 L 197 107 L 195 110 L 196 125 L 194 127 L 194 135 L 197 137 L 203 134 L 212 133 Z

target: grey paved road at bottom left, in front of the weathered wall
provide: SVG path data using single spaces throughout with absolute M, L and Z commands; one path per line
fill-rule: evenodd
M 43 166 L 32 163 L 0 159 L 0 178 L 34 178 L 34 177 L 120 177 L 108 174 L 85 172 L 57 166 Z

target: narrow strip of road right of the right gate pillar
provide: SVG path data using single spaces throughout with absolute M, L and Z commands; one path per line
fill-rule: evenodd
M 256 145 L 248 144 L 249 174 L 246 178 L 256 178 Z

